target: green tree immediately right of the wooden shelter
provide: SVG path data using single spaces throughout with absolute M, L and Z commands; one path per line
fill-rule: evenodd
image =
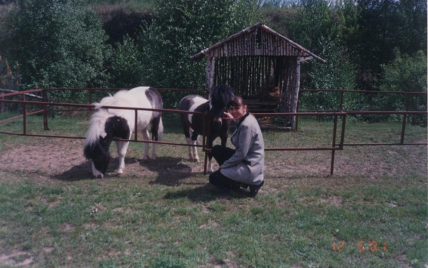
M 302 64 L 302 88 L 354 90 L 356 74 L 342 43 L 344 14 L 338 6 L 324 0 L 303 0 L 297 16 L 290 23 L 290 37 L 327 63 L 309 61 Z M 345 99 L 344 110 L 358 105 L 355 95 Z M 340 94 L 316 92 L 300 94 L 302 110 L 338 110 Z

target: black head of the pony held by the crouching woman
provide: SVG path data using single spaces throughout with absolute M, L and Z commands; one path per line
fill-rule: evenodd
M 226 105 L 233 98 L 233 89 L 228 85 L 217 85 L 210 93 L 210 112 L 214 116 L 214 127 L 220 129 L 222 126 L 222 116 Z

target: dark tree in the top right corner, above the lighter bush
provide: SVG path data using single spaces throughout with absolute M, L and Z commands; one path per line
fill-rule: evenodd
M 427 5 L 422 0 L 349 0 L 350 19 L 344 42 L 358 72 L 358 86 L 376 90 L 381 65 L 391 63 L 394 50 L 414 55 L 427 52 Z M 357 10 L 356 13 L 353 13 Z

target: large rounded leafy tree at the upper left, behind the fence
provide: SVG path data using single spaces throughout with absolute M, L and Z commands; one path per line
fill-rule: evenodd
M 24 87 L 89 87 L 105 81 L 104 30 L 82 0 L 19 0 L 10 15 L 8 55 Z M 71 92 L 59 92 L 65 98 Z M 75 96 L 77 97 L 77 96 Z

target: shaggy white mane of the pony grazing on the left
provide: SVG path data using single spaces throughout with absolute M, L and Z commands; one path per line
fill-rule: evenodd
M 115 106 L 117 99 L 121 98 L 125 94 L 126 90 L 121 90 L 114 94 L 113 96 L 106 96 L 99 103 L 93 103 L 95 106 L 95 111 L 92 116 L 90 116 L 90 127 L 88 132 L 86 132 L 86 139 L 84 146 L 92 145 L 96 143 L 99 136 L 106 136 L 106 131 L 104 130 L 107 118 L 111 116 L 108 112 L 108 109 L 101 109 L 102 106 Z

